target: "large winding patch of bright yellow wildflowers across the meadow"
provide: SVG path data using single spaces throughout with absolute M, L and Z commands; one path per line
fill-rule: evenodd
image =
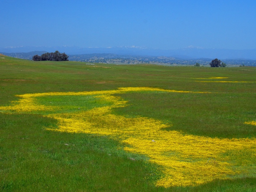
M 256 169 L 256 165 L 250 160 L 243 164 L 239 162 L 238 166 L 232 155 L 245 150 L 256 158 L 254 138 L 220 139 L 184 135 L 178 131 L 167 131 L 164 128 L 172 124 L 164 124 L 156 119 L 128 118 L 112 113 L 113 108 L 127 105 L 127 101 L 114 94 L 141 91 L 206 93 L 148 87 L 126 87 L 110 91 L 36 93 L 19 95 L 21 98 L 19 101 L 13 102 L 12 106 L 2 106 L 0 110 L 39 113 L 57 119 L 58 128 L 48 127 L 47 130 L 108 135 L 124 143 L 126 146 L 124 150 L 146 155 L 150 162 L 161 167 L 164 176 L 156 181 L 156 186 L 195 186 L 214 179 L 250 176 L 250 171 Z M 40 97 L 64 95 L 91 95 L 108 105 L 72 112 L 65 110 L 56 112 L 58 107 L 40 104 Z

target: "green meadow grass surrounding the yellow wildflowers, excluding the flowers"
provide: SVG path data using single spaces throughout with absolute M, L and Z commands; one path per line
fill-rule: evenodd
M 0 58 L 0 105 L 15 95 L 36 92 L 112 90 L 150 86 L 197 94 L 126 93 L 129 106 L 113 112 L 172 121 L 172 130 L 221 138 L 254 137 L 256 83 L 254 68 L 171 68 L 152 65 L 84 65 L 79 62 L 33 62 Z M 241 70 L 244 69 L 244 70 Z M 216 180 L 194 188 L 155 188 L 156 167 L 127 154 L 107 137 L 44 130 L 54 119 L 0 113 L 0 190 L 3 191 L 253 191 L 255 178 Z M 65 145 L 68 144 L 68 145 Z M 121 149 L 120 149 L 121 148 Z M 241 185 L 241 183 L 244 183 Z

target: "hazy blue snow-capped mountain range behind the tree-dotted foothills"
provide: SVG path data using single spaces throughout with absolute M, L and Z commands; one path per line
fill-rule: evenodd
M 78 55 L 78 54 L 93 54 L 93 53 L 108 53 L 116 55 L 134 55 L 134 56 L 150 56 L 150 57 L 174 57 L 178 59 L 198 59 L 198 58 L 209 58 L 220 60 L 256 60 L 256 49 L 250 50 L 231 50 L 231 49 L 203 49 L 200 47 L 189 46 L 180 49 L 173 50 L 160 50 L 150 49 L 146 47 L 138 46 L 120 46 L 120 47 L 108 47 L 108 48 L 81 48 L 76 46 L 56 46 L 56 47 L 5 47 L 0 48 L 2 53 L 26 53 L 34 51 L 45 51 L 45 52 L 65 52 L 67 55 Z

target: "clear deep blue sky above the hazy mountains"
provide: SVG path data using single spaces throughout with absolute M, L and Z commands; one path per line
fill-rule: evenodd
M 0 47 L 256 49 L 255 0 L 0 0 Z

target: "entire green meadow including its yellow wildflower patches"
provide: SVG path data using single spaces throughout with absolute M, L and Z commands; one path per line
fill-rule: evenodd
M 0 55 L 0 191 L 256 191 L 256 68 Z

